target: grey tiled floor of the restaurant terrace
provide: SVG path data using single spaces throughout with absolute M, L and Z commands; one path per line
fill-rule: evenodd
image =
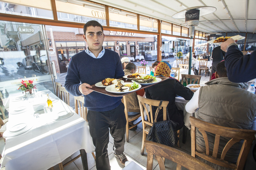
M 168 58 L 168 59 L 164 59 L 164 60 L 169 60 L 170 64 L 173 65 L 173 61 L 174 58 Z M 148 64 L 151 65 L 151 63 L 153 63 L 155 61 L 148 61 Z M 140 62 L 134 62 L 135 65 L 140 65 Z M 210 77 L 208 75 L 203 75 L 201 74 L 201 81 L 200 84 L 204 84 L 205 82 L 209 81 Z M 61 74 L 61 83 L 65 84 L 65 77 L 66 77 L 66 73 Z M 70 106 L 74 108 L 74 97 L 72 95 L 70 95 Z M 124 166 L 122 166 L 118 160 L 116 159 L 115 155 L 112 152 L 112 147 L 113 147 L 113 138 L 111 137 L 111 135 L 109 135 L 109 144 L 108 144 L 108 154 L 109 154 L 109 161 L 110 161 L 110 165 L 111 165 L 111 169 L 112 170 L 120 170 L 122 168 L 124 168 Z M 144 155 L 141 155 L 141 145 L 142 145 L 142 124 L 140 123 L 138 125 L 137 130 L 135 131 L 130 131 L 129 130 L 129 143 L 125 142 L 125 155 L 127 156 L 128 160 L 133 160 L 134 162 L 136 162 L 137 164 L 139 164 L 143 169 L 146 169 L 146 165 L 147 165 L 147 152 L 146 150 L 144 151 Z M 191 140 L 190 140 L 190 130 L 187 130 L 187 139 L 186 139 L 186 143 L 183 144 L 182 143 L 182 129 L 181 129 L 181 135 L 180 135 L 180 148 L 178 148 L 177 146 L 175 146 L 174 148 L 179 149 L 181 151 L 184 151 L 188 154 L 191 154 Z M 79 151 L 77 151 L 76 153 L 74 153 L 73 155 L 71 155 L 70 157 L 73 158 L 75 156 L 77 156 L 79 154 Z M 67 158 L 66 160 L 63 161 L 63 163 L 69 161 L 71 158 Z M 88 167 L 90 170 L 96 170 L 96 164 L 95 164 L 95 160 L 92 156 L 91 153 L 87 153 L 87 159 L 88 159 Z M 176 163 L 166 160 L 166 169 L 173 169 L 174 167 L 176 167 Z M 184 168 L 184 167 L 183 167 Z M 56 165 L 54 167 L 55 170 L 58 170 L 59 167 L 58 165 Z M 64 170 L 82 170 L 82 161 L 81 158 L 78 158 L 77 160 L 75 160 L 74 162 L 72 162 L 71 164 L 67 165 L 66 167 L 64 167 Z M 153 169 L 154 170 L 159 170 L 159 166 L 157 161 L 154 159 L 154 163 L 153 163 Z M 184 168 L 185 169 L 185 168 Z

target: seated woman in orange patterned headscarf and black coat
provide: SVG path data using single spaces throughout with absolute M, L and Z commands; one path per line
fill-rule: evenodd
M 185 100 L 190 100 L 194 93 L 187 87 L 184 87 L 178 80 L 172 78 L 170 76 L 171 65 L 166 61 L 161 61 L 158 63 L 155 76 L 169 77 L 169 79 L 158 83 L 156 85 L 150 86 L 145 89 L 146 98 L 153 100 L 164 100 L 169 101 L 167 106 L 168 114 L 170 116 L 170 120 L 178 123 L 178 127 L 181 129 L 183 127 L 183 111 L 178 110 L 175 105 L 175 96 L 181 96 Z M 153 107 L 153 117 L 155 117 L 157 107 Z M 157 122 L 163 121 L 163 109 L 159 111 Z

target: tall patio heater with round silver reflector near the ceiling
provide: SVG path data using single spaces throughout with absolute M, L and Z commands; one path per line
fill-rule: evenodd
M 215 7 L 208 6 L 197 6 L 190 7 L 185 10 L 182 10 L 172 16 L 175 19 L 185 19 L 185 26 L 188 27 L 188 37 L 189 41 L 189 64 L 188 64 L 188 74 L 191 74 L 191 60 L 192 60 L 192 46 L 193 46 L 193 37 L 195 35 L 195 26 L 199 24 L 199 17 L 207 15 L 216 11 Z

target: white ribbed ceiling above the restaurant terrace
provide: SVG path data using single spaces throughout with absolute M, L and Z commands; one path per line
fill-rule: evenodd
M 196 30 L 210 32 L 256 32 L 256 0 L 93 0 L 104 5 L 185 26 L 185 19 L 172 15 L 195 6 L 217 10 L 201 16 Z M 225 8 L 226 6 L 226 8 Z

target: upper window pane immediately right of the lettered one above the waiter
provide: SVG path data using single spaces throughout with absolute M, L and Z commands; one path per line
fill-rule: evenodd
M 137 30 L 137 14 L 120 9 L 108 8 L 109 26 Z

